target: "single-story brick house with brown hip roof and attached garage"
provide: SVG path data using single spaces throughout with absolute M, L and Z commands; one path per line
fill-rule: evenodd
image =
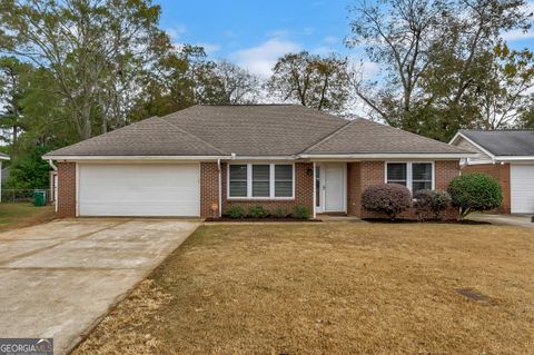
M 60 216 L 201 216 L 296 205 L 366 217 L 385 181 L 445 189 L 463 148 L 297 105 L 195 106 L 43 156 Z M 220 207 L 220 208 L 219 208 Z

